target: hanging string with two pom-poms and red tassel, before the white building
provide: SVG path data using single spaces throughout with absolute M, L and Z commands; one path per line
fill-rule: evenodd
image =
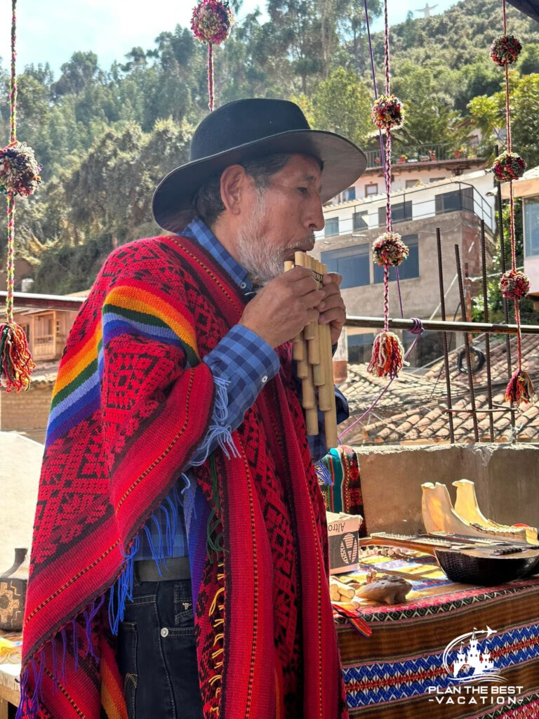
M 390 27 L 387 21 L 387 0 L 384 0 L 384 68 L 385 93 L 372 107 L 372 120 L 376 127 L 385 130 L 384 181 L 386 194 L 386 231 L 374 240 L 373 261 L 384 267 L 384 329 L 374 338 L 372 357 L 367 371 L 377 377 L 393 379 L 402 369 L 404 348 L 396 334 L 390 332 L 390 267 L 397 267 L 408 256 L 408 248 L 400 234 L 393 232 L 391 216 L 391 130 L 402 124 L 402 104 L 390 89 Z

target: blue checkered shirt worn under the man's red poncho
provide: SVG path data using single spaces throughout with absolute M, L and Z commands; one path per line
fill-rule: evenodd
M 229 273 L 234 282 L 244 290 L 244 293 L 253 291 L 253 285 L 247 270 L 239 265 L 234 257 L 223 247 L 221 242 L 215 237 L 213 232 L 203 223 L 201 219 L 196 217 L 182 232 L 185 237 L 197 240 L 204 249 L 211 254 L 214 260 Z M 226 418 L 226 426 L 234 431 L 243 421 L 244 415 L 254 404 L 254 400 L 258 397 L 260 390 L 271 380 L 279 371 L 279 359 L 275 349 L 270 347 L 267 342 L 258 334 L 252 332 L 243 325 L 234 325 L 229 332 L 218 342 L 211 352 L 206 354 L 203 362 L 210 367 L 213 377 L 224 380 L 228 383 L 228 416 Z M 301 383 L 298 382 L 298 392 L 301 392 Z M 342 422 L 349 416 L 348 403 L 337 389 L 336 406 L 337 406 L 337 422 Z M 222 418 L 214 411 L 211 424 L 221 424 Z M 323 415 L 319 413 L 320 434 L 309 437 L 310 453 L 313 461 L 326 454 L 326 443 L 324 435 Z M 191 462 L 195 464 L 198 460 L 203 459 L 207 452 L 213 452 L 218 446 L 218 439 L 214 439 L 213 443 L 208 446 L 202 444 L 201 448 L 193 454 Z M 193 472 L 186 470 L 185 474 L 191 482 L 196 482 Z M 183 484 L 183 480 L 180 480 Z M 159 536 L 164 536 L 166 527 L 157 528 L 156 523 L 160 522 L 158 518 L 150 519 L 147 523 L 147 531 L 152 535 L 155 544 L 159 541 Z M 164 525 L 165 518 L 162 518 Z M 147 541 L 146 531 L 140 533 L 140 549 L 137 552 L 137 559 L 152 559 L 152 551 Z M 187 538 L 185 536 L 185 523 L 183 520 L 183 511 L 178 512 L 178 529 L 175 533 L 172 557 L 185 557 L 187 551 Z

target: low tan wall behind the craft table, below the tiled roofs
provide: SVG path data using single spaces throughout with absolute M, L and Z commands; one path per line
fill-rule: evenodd
M 415 534 L 423 528 L 421 485 L 475 482 L 484 516 L 502 524 L 539 524 L 539 444 L 356 447 L 369 532 Z

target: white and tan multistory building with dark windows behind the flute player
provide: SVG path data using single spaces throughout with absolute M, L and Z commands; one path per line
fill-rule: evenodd
M 465 302 L 469 316 L 471 297 L 479 289 L 478 283 L 469 278 L 476 278 L 482 271 L 482 221 L 487 237 L 487 261 L 492 256 L 494 201 L 492 173 L 487 170 L 449 176 L 392 192 L 394 229 L 402 235 L 410 249 L 407 260 L 399 267 L 403 316 L 441 319 L 437 228 L 441 233 L 446 317 L 461 318 L 455 245 L 459 247 L 464 269 Z M 372 262 L 372 242 L 385 229 L 385 195 L 378 193 L 367 198 L 328 203 L 324 207 L 324 216 L 326 226 L 321 232 L 315 233 L 312 254 L 321 259 L 328 270 L 343 275 L 341 290 L 350 316 L 381 317 L 384 271 Z M 395 268 L 392 268 L 390 316 L 400 317 L 395 279 Z M 367 329 L 348 329 L 349 362 L 368 361 L 375 334 L 375 331 Z M 405 347 L 412 340 L 413 336 L 404 333 Z M 439 333 L 425 332 L 414 354 L 412 359 L 415 365 L 423 365 L 439 357 Z

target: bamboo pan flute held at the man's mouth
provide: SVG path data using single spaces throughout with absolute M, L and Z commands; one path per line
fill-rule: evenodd
M 326 265 L 309 257 L 305 252 L 296 252 L 294 262 L 285 262 L 285 272 L 295 265 L 313 270 L 315 280 L 322 286 Z M 296 372 L 301 380 L 303 409 L 307 434 L 318 434 L 318 409 L 323 412 L 326 446 L 338 445 L 335 390 L 333 389 L 333 355 L 331 354 L 331 332 L 328 324 L 310 322 L 294 339 L 292 357 L 296 360 Z M 318 408 L 316 406 L 318 390 Z

